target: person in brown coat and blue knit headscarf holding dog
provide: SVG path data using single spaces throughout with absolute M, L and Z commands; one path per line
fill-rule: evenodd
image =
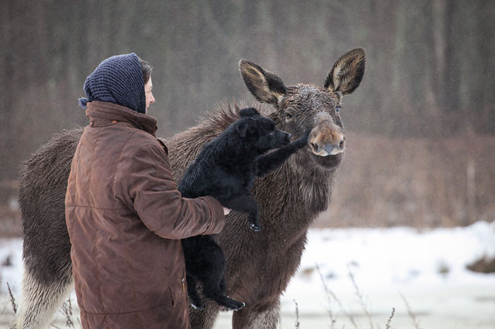
M 190 328 L 180 239 L 221 232 L 228 209 L 182 198 L 156 138 L 151 66 L 105 59 L 84 83 L 89 125 L 71 164 L 66 224 L 81 325 Z

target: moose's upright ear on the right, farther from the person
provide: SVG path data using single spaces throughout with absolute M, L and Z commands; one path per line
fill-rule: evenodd
M 328 74 L 325 88 L 332 92 L 342 92 L 342 95 L 350 94 L 358 88 L 363 79 L 365 62 L 366 53 L 363 48 L 356 48 L 344 54 Z

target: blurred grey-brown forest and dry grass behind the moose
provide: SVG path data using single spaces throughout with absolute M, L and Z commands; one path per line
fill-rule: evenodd
M 27 1 L 0 10 L 0 236 L 19 234 L 21 162 L 66 128 L 100 61 L 154 67 L 158 136 L 253 97 L 241 58 L 322 85 L 366 49 L 344 99 L 347 154 L 319 226 L 438 227 L 495 218 L 495 1 Z

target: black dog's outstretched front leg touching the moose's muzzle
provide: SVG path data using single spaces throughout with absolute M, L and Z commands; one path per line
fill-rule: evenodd
M 284 164 L 293 153 L 297 152 L 300 148 L 305 147 L 305 145 L 308 145 L 308 136 L 310 132 L 311 131 L 308 130 L 298 140 L 274 150 L 267 155 L 259 157 L 256 161 L 256 176 L 263 177 L 269 172 L 272 172 Z

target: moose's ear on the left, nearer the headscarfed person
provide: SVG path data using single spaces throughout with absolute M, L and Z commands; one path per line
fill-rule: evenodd
M 282 80 L 257 64 L 241 59 L 239 71 L 249 91 L 260 102 L 277 104 L 279 98 L 286 93 Z

